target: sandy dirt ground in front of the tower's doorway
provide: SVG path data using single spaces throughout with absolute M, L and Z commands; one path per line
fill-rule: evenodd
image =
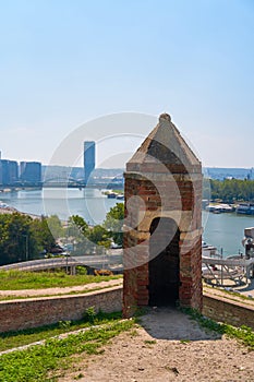
M 101 355 L 84 356 L 71 382 L 253 382 L 254 353 L 206 333 L 173 309 L 152 310 L 134 333 L 123 333 Z

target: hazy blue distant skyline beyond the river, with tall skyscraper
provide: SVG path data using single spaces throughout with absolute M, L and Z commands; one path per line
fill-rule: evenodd
M 2 159 L 0 152 L 0 189 L 19 187 L 100 187 L 123 188 L 123 168 L 95 168 L 96 143 L 84 142 L 84 166 L 46 166 L 39 162 Z M 204 167 L 204 177 L 217 180 L 254 180 L 254 168 Z

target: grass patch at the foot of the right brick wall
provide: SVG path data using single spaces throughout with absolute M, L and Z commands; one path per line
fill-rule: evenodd
M 197 321 L 201 326 L 206 327 L 210 331 L 217 332 L 219 334 L 226 334 L 231 338 L 237 338 L 243 345 L 247 346 L 249 350 L 254 350 L 254 332 L 251 327 L 242 325 L 241 327 L 235 327 L 229 324 L 219 323 L 208 318 L 205 318 L 199 312 L 193 309 L 182 309 L 185 313 L 191 315 L 192 319 Z

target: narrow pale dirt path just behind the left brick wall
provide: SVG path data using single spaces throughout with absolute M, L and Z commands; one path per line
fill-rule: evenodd
M 108 282 L 90 283 L 72 287 L 56 287 L 44 289 L 22 289 L 22 290 L 0 290 L 0 297 L 16 296 L 16 297 L 36 297 L 36 296 L 56 296 L 66 295 L 70 293 L 83 293 L 95 288 L 107 288 L 110 286 L 122 285 L 122 279 L 110 279 Z

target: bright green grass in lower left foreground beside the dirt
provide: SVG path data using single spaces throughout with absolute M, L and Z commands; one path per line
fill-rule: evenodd
M 2 355 L 0 357 L 0 381 L 56 381 L 57 371 L 70 368 L 74 362 L 75 358 L 72 359 L 72 356 L 82 353 L 99 354 L 101 347 L 110 338 L 123 331 L 129 331 L 134 324 L 134 320 L 118 320 L 101 325 L 99 329 L 70 334 L 64 339 L 48 339 L 45 345 Z

